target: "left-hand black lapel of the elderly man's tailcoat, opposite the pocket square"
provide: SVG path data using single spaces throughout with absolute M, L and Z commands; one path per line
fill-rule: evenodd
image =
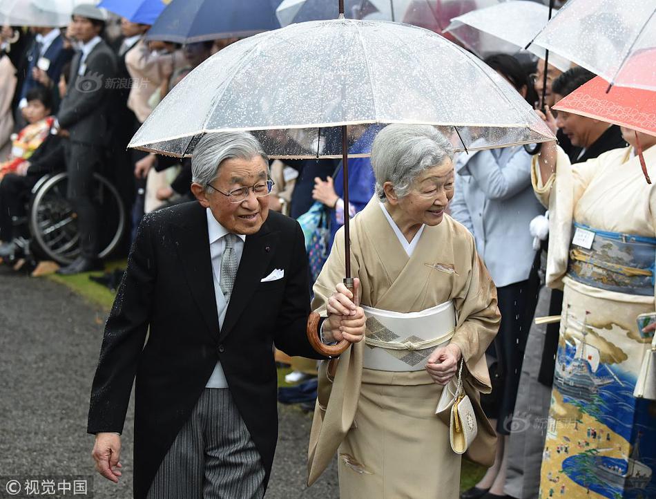
M 219 336 L 219 317 L 216 310 L 212 259 L 209 252 L 209 235 L 205 210 L 197 205 L 190 220 L 183 227 L 171 225 L 173 241 L 186 275 L 191 295 L 200 308 L 209 335 Z

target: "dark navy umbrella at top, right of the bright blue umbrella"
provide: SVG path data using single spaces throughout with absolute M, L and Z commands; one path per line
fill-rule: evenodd
M 146 36 L 189 44 L 276 30 L 280 0 L 173 0 Z

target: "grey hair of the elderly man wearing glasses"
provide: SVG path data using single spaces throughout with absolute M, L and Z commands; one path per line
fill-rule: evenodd
M 207 189 L 219 173 L 224 160 L 241 158 L 250 160 L 262 156 L 267 164 L 269 156 L 262 145 L 248 132 L 208 133 L 196 144 L 191 158 L 191 181 Z

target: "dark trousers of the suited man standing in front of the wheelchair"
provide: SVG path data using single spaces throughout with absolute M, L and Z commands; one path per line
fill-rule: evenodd
M 77 213 L 80 254 L 83 258 L 98 258 L 98 215 L 93 203 L 93 173 L 101 164 L 101 151 L 86 144 L 66 140 L 66 171 L 68 172 L 68 200 Z

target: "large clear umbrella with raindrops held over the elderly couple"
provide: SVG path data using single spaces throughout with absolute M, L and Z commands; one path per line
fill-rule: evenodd
M 461 151 L 553 140 L 521 95 L 463 48 L 414 26 L 334 19 L 213 55 L 130 147 L 191 156 L 205 133 L 247 130 L 272 158 L 341 158 L 339 127 L 367 123 L 439 126 Z

